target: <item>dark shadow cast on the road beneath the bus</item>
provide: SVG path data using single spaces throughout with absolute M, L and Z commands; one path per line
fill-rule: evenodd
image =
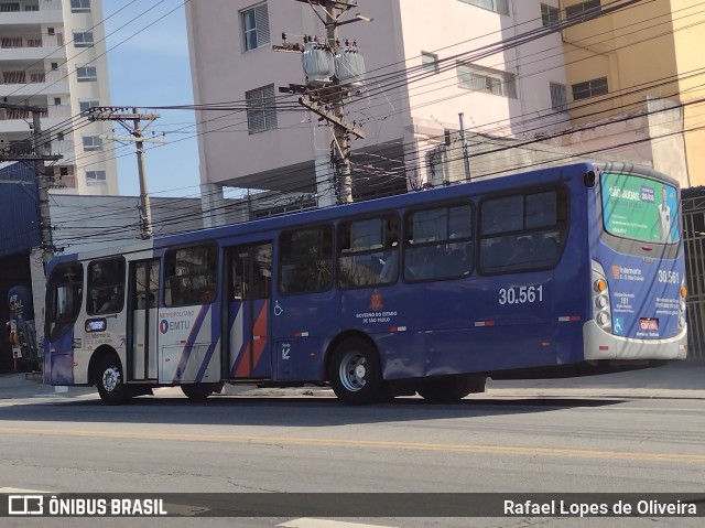
M 417 420 L 479 419 L 522 416 L 576 408 L 625 403 L 618 398 L 468 398 L 453 403 L 432 403 L 417 397 L 364 407 L 346 406 L 332 397 L 215 396 L 204 402 L 184 397 L 139 397 L 118 407 L 98 398 L 36 402 L 0 408 L 0 421 L 140 423 L 181 425 L 328 427 L 394 423 Z

